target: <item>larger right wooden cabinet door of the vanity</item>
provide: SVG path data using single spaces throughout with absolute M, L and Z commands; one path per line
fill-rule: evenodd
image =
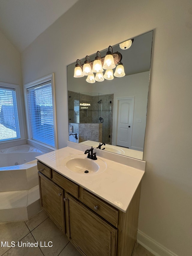
M 66 193 L 67 236 L 86 256 L 115 256 L 117 229 Z

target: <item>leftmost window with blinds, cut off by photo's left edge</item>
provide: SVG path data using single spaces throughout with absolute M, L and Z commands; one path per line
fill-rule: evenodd
M 20 139 L 21 134 L 24 137 L 20 109 L 19 85 L 0 83 L 0 142 Z

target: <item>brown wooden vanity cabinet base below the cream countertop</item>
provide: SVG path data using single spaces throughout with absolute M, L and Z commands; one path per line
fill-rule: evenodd
M 137 243 L 141 183 L 125 213 L 47 168 L 41 172 L 38 161 L 41 206 L 78 251 L 84 256 L 131 256 Z

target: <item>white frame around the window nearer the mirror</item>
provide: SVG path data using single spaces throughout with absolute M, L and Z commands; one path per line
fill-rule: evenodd
M 53 108 L 53 125 L 54 125 L 54 141 L 55 141 L 55 147 L 49 146 L 47 144 L 44 144 L 40 141 L 33 140 L 32 139 L 32 132 L 31 132 L 31 127 L 30 127 L 30 122 L 29 122 L 29 112 L 28 112 L 28 101 L 27 101 L 27 89 L 41 85 L 42 83 L 51 83 L 51 88 L 52 88 L 52 108 Z M 55 83 L 54 83 L 54 73 L 49 74 L 45 77 L 41 77 L 37 80 L 34 80 L 30 83 L 27 83 L 24 85 L 24 96 L 25 96 L 25 107 L 26 107 L 26 122 L 27 122 L 27 135 L 29 141 L 36 143 L 38 145 L 44 146 L 48 149 L 58 149 L 58 144 L 57 144 L 57 127 L 56 127 L 56 108 L 55 108 Z

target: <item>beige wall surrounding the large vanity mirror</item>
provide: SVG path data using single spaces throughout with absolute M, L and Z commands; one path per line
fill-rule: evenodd
M 22 53 L 23 83 L 55 72 L 61 148 L 68 139 L 67 65 L 155 29 L 139 230 L 181 256 L 192 251 L 191 13 L 190 0 L 81 0 Z

